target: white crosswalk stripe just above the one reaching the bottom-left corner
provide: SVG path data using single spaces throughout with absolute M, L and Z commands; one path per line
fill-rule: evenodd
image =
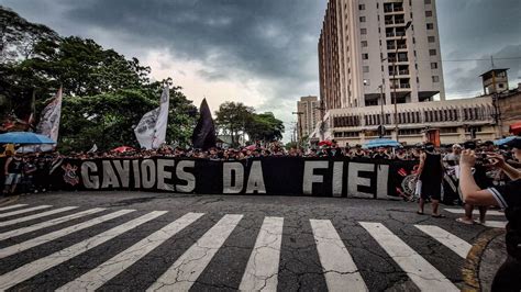
M 120 210 L 120 211 L 117 211 L 114 213 L 103 215 L 101 217 L 96 217 L 96 218 L 86 221 L 84 223 L 69 226 L 67 228 L 63 228 L 63 229 L 59 229 L 59 231 L 56 231 L 56 232 L 53 232 L 53 233 L 49 233 L 49 234 L 42 235 L 42 236 L 36 237 L 36 238 L 29 239 L 26 242 L 23 242 L 23 243 L 16 244 L 16 245 L 5 247 L 3 249 L 0 249 L 0 258 L 9 257 L 11 255 L 21 252 L 23 250 L 27 250 L 27 249 L 33 248 L 35 246 L 48 243 L 48 242 L 54 240 L 56 238 L 69 235 L 69 234 L 75 233 L 75 232 L 79 232 L 81 229 L 95 226 L 97 224 L 100 224 L 100 223 L 109 221 L 109 220 L 113 220 L 115 217 L 129 214 L 129 213 L 134 212 L 134 211 L 135 210 Z

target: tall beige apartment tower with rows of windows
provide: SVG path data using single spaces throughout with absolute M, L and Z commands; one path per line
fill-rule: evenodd
M 330 0 L 319 67 L 328 110 L 445 100 L 435 0 Z

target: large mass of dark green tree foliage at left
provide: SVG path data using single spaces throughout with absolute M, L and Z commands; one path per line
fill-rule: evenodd
M 137 146 L 133 127 L 159 105 L 162 89 L 168 86 L 167 142 L 189 143 L 197 108 L 170 78 L 153 81 L 151 68 L 136 58 L 126 59 L 92 40 L 59 37 L 1 7 L 0 19 L 5 20 L 0 25 L 0 54 L 10 56 L 0 61 L 3 114 L 27 116 L 33 94 L 40 112 L 63 87 L 58 149 L 85 150 L 95 143 L 100 149 Z

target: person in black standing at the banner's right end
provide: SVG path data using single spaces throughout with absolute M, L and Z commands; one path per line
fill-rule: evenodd
M 443 217 L 439 213 L 439 205 L 442 195 L 443 165 L 442 156 L 435 151 L 434 144 L 426 143 L 425 151 L 420 156 L 420 167 L 418 169 L 418 179 L 421 181 L 420 204 L 418 214 L 424 214 L 425 201 L 432 200 L 432 216 Z

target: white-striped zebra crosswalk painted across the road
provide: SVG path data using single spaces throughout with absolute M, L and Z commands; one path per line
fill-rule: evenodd
M 88 254 L 102 245 L 118 245 L 121 236 L 135 233 L 135 238 L 126 248 L 114 255 L 103 257 L 96 267 L 82 270 L 80 274 L 63 281 L 53 288 L 57 291 L 95 291 L 132 269 L 135 265 L 149 260 L 149 255 L 162 246 L 171 243 L 185 231 L 189 231 L 209 214 L 186 213 L 162 227 L 143 234 L 136 232 L 140 227 L 163 222 L 167 211 L 140 212 L 136 210 L 110 210 L 93 207 L 80 210 L 78 206 L 54 207 L 52 205 L 15 204 L 0 207 L 0 291 L 15 288 L 31 281 L 53 269 L 67 265 L 77 257 Z M 154 274 L 154 280 L 147 291 L 188 291 L 204 273 L 211 262 L 219 257 L 220 250 L 231 239 L 247 215 L 223 214 L 211 223 L 208 229 L 195 243 L 181 250 L 180 256 L 168 261 L 168 267 Z M 169 220 L 168 220 L 169 221 Z M 301 232 L 309 233 L 314 240 L 317 262 L 321 266 L 323 281 L 329 291 L 369 291 L 372 279 L 369 273 L 359 269 L 364 259 L 346 242 L 345 229 L 335 227 L 334 221 L 324 218 L 308 218 L 307 226 Z M 241 291 L 277 291 L 279 271 L 284 254 L 286 220 L 279 216 L 266 216 L 255 227 L 255 240 L 248 246 L 250 256 L 241 258 L 243 263 L 235 289 Z M 108 227 L 106 227 L 108 226 Z M 422 291 L 457 291 L 453 283 L 413 245 L 400 234 L 395 234 L 386 223 L 362 221 L 356 222 L 358 232 L 364 232 L 367 238 L 374 240 L 385 252 L 389 262 L 393 262 L 409 280 Z M 97 231 L 96 228 L 101 228 Z M 250 228 L 253 228 L 250 226 Z M 423 234 L 433 243 L 444 246 L 448 252 L 454 252 L 462 261 L 470 250 L 470 243 L 459 238 L 452 231 L 440 226 L 420 224 L 413 225 L 418 233 Z M 86 233 L 89 231 L 89 233 Z M 88 234 L 88 235 L 86 235 Z M 85 236 L 68 243 L 66 238 L 75 235 Z M 58 248 L 53 243 L 60 243 Z M 41 251 L 42 246 L 49 249 L 48 254 L 35 252 L 29 260 L 10 266 L 19 255 L 29 257 L 29 252 Z M 53 249 L 55 248 L 55 249 Z M 233 255 L 232 255 L 233 256 Z M 11 261 L 9 261 L 11 259 Z M 3 261 L 5 260 L 5 261 Z M 443 269 L 442 269 L 443 270 Z M 3 272 L 3 273 L 2 273 Z M 145 271 L 146 272 L 146 271 Z

